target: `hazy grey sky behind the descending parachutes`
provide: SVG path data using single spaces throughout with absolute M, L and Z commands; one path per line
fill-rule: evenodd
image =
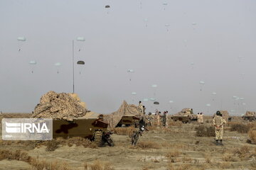
M 160 105 L 143 102 L 146 112 L 256 110 L 255 0 L 0 0 L 0 22 L 3 112 L 31 112 L 46 92 L 73 91 L 72 40 L 75 62 L 85 61 L 75 65 L 75 92 L 91 111 L 152 97 Z

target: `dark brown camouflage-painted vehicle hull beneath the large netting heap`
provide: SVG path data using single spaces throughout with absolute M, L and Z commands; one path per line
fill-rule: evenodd
M 103 115 L 93 112 L 87 112 L 73 121 L 53 119 L 53 138 L 84 137 L 95 141 L 98 146 L 107 142 L 112 147 L 114 142 L 107 131 L 107 126 L 108 123 L 103 121 Z

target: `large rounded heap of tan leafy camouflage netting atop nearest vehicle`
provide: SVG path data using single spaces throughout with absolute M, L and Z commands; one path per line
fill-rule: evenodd
M 58 94 L 55 91 L 49 91 L 41 97 L 31 117 L 72 121 L 74 118 L 85 115 L 87 112 L 85 106 L 84 102 L 80 102 L 77 94 Z

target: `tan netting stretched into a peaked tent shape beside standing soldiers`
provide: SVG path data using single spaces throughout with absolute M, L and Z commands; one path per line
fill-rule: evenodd
M 122 103 L 122 106 L 115 111 L 114 113 L 111 113 L 110 115 L 104 116 L 104 119 L 107 123 L 109 123 L 108 128 L 114 128 L 117 126 L 119 121 L 122 119 L 122 116 L 124 115 L 142 115 L 142 113 L 139 111 L 139 108 L 135 105 L 129 105 L 126 101 Z

